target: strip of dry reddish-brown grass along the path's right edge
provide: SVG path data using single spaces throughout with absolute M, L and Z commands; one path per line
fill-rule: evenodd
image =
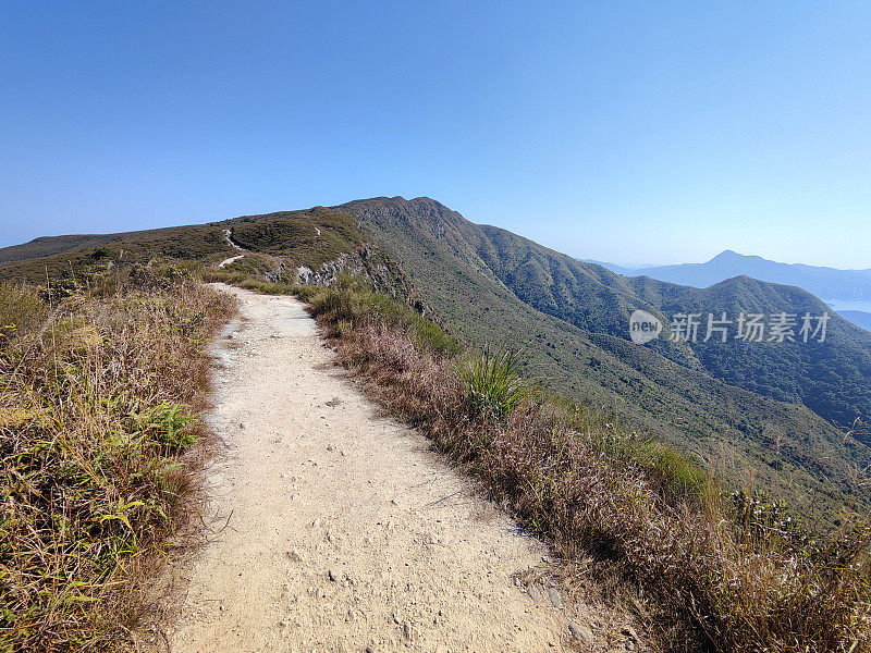
M 581 407 L 530 396 L 502 418 L 482 414 L 417 317 L 348 289 L 303 293 L 343 365 L 383 405 L 566 559 L 592 554 L 634 583 L 664 649 L 871 650 L 864 523 L 803 533 L 776 505 L 713 481 L 690 486 L 696 475 L 679 456 L 639 446 Z

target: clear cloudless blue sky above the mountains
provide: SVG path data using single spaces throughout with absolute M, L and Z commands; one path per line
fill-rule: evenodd
M 582 258 L 871 267 L 866 2 L 0 5 L 0 245 L 427 195 Z

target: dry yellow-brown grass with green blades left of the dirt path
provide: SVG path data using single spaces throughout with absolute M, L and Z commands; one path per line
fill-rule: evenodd
M 233 305 L 144 270 L 88 286 L 0 286 L 0 651 L 130 648 L 191 507 L 205 347 Z

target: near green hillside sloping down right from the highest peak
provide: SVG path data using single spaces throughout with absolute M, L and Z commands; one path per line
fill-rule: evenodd
M 855 484 L 856 469 L 871 460 L 868 447 L 805 406 L 714 379 L 686 343 L 654 349 L 626 341 L 633 308 L 659 312 L 629 280 L 475 225 L 427 198 L 339 208 L 360 220 L 464 337 L 522 347 L 545 385 L 697 453 L 732 482 L 752 476 L 806 508 L 868 502 Z

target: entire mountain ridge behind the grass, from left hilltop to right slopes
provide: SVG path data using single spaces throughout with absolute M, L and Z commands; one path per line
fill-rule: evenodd
M 322 237 L 321 233 L 316 237 L 315 226 Z M 396 292 L 409 301 L 414 295 L 421 310 L 431 307 L 467 342 L 524 349 L 528 373 L 543 385 L 611 415 L 626 429 L 691 452 L 733 486 L 744 486 L 748 478 L 755 478 L 810 512 L 834 514 L 844 505 L 871 505 L 867 490 L 852 481 L 857 468 L 871 466 L 871 448 L 797 402 L 800 386 L 777 385 L 777 379 L 759 377 L 759 370 L 755 372 L 759 387 L 741 387 L 741 379 L 723 373 L 722 380 L 712 375 L 717 365 L 733 359 L 753 369 L 748 350 L 717 352 L 713 346 L 706 350 L 667 340 L 638 346 L 628 338 L 631 309 L 649 309 L 661 317 L 667 334 L 665 313 L 671 308 L 706 298 L 715 303 L 721 295 L 731 297 L 735 306 L 740 305 L 741 294 L 759 293 L 772 306 L 777 297 L 796 294 L 809 306 L 819 305 L 799 288 L 745 278 L 700 291 L 650 278 L 621 276 L 500 227 L 476 225 L 422 197 L 371 198 L 168 227 L 156 235 L 115 238 L 93 251 L 84 248 L 2 263 L 0 278 L 26 273 L 38 281 L 45 279 L 48 263 L 59 276 L 77 266 L 105 268 L 106 261 L 210 267 L 230 249 L 223 229 L 237 230 L 235 237 L 253 252 L 230 266 L 226 273 L 240 278 L 243 271 L 266 271 L 284 279 L 294 266 L 332 266 L 342 252 L 363 256 L 367 243 L 371 244 L 383 251 L 383 264 L 391 273 L 403 278 Z M 111 236 L 120 235 L 124 234 Z M 836 323 L 843 333 L 842 322 Z M 847 328 L 847 333 L 852 332 Z M 808 378 L 799 354 L 768 350 L 769 362 L 776 369 Z M 867 378 L 860 374 L 841 385 L 845 391 L 854 385 L 867 389 Z M 777 398 L 775 391 L 783 396 Z

